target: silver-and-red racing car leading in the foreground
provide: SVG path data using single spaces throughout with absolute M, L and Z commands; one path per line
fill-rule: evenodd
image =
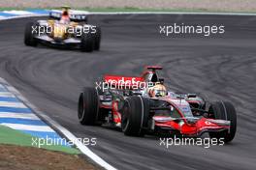
M 146 67 L 139 77 L 105 75 L 102 86 L 84 88 L 78 106 L 80 124 L 121 128 L 132 136 L 170 133 L 196 137 L 208 132 L 224 142 L 233 140 L 237 114 L 231 102 L 209 102 L 196 94 L 168 91 L 159 70 L 162 68 Z

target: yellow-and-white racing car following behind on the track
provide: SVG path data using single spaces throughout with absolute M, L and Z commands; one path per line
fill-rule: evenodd
M 87 14 L 78 11 L 51 11 L 48 20 L 28 22 L 25 27 L 24 43 L 36 46 L 38 42 L 80 48 L 91 52 L 100 50 L 101 29 L 87 24 Z

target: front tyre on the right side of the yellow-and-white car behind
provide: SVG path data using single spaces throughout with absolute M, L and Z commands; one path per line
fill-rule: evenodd
M 80 50 L 84 52 L 92 52 L 95 44 L 95 36 L 89 31 L 82 32 L 80 39 Z

